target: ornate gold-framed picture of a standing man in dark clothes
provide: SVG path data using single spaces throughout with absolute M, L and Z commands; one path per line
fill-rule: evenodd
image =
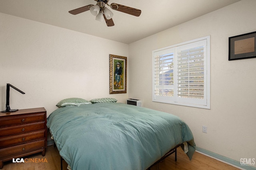
M 126 93 L 127 57 L 109 55 L 109 94 Z

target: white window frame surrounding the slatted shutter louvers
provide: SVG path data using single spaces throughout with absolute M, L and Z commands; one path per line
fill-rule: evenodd
M 203 99 L 188 99 L 183 98 L 182 100 L 178 97 L 178 49 L 181 47 L 192 46 L 198 47 L 196 44 L 203 44 L 204 46 L 204 98 Z M 174 52 L 173 57 L 173 76 L 174 76 L 174 96 L 156 96 L 155 95 L 155 57 L 159 55 L 165 55 L 167 53 L 164 52 Z M 202 102 L 204 100 L 204 102 Z M 189 101 L 193 101 L 189 103 Z M 156 49 L 152 51 L 152 102 L 160 102 L 160 103 L 167 103 L 167 104 L 175 104 L 181 106 L 190 106 L 190 107 L 198 107 L 204 109 L 210 109 L 210 35 L 206 37 L 201 37 L 198 39 L 193 39 L 190 41 L 178 43 L 175 45 L 171 45 L 168 47 Z M 204 103 L 204 104 L 202 104 Z

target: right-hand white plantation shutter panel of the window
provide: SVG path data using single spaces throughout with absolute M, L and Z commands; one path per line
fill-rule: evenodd
M 206 106 L 206 40 L 177 47 L 177 101 Z

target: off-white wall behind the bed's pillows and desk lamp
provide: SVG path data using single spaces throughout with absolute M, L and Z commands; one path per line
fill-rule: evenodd
M 11 109 L 45 107 L 47 115 L 64 98 L 112 97 L 109 54 L 128 57 L 128 45 L 0 13 L 0 111 L 6 84 Z

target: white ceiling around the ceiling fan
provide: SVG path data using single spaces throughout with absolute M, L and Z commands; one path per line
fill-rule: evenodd
M 240 0 L 110 0 L 142 10 L 139 17 L 112 10 L 112 27 L 95 20 L 90 11 L 68 11 L 96 4 L 95 0 L 0 0 L 0 12 L 98 37 L 132 43 Z

